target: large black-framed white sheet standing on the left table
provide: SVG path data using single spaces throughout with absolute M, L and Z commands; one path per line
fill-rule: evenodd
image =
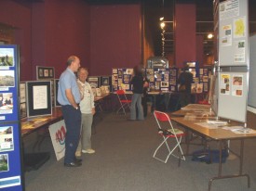
M 50 81 L 26 82 L 27 115 L 51 115 L 51 83 Z

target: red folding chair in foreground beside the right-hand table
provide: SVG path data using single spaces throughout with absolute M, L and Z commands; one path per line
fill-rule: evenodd
M 155 121 L 157 122 L 157 125 L 158 125 L 158 134 L 162 136 L 163 141 L 155 149 L 153 158 L 158 159 L 164 163 L 167 163 L 169 156 L 172 155 L 173 157 L 179 159 L 179 164 L 180 164 L 181 159 L 185 160 L 185 157 L 182 151 L 182 146 L 181 146 L 182 137 L 185 136 L 185 134 L 182 132 L 182 130 L 173 128 L 173 125 L 167 113 L 155 110 L 154 116 L 155 116 Z M 174 146 L 171 146 L 171 148 L 169 147 L 169 144 L 168 144 L 168 140 L 170 139 L 174 140 L 174 143 L 172 143 L 174 144 Z M 165 159 L 160 159 L 156 157 L 156 153 L 161 146 L 167 146 L 167 149 L 168 149 L 168 154 Z M 174 153 L 176 148 L 180 151 L 179 156 L 178 154 Z

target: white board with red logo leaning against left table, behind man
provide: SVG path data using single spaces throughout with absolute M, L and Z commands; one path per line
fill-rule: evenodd
M 51 124 L 49 134 L 55 151 L 56 159 L 60 160 L 65 154 L 66 126 L 64 120 Z

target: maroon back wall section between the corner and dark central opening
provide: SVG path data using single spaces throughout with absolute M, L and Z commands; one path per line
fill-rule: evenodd
M 141 63 L 141 6 L 90 7 L 90 74 Z

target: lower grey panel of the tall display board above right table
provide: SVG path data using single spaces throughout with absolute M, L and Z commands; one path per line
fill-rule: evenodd
M 246 122 L 248 72 L 219 73 L 218 117 Z

